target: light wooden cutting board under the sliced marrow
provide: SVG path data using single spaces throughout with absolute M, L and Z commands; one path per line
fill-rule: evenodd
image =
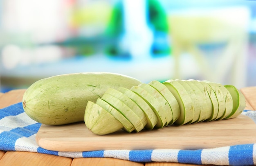
M 200 122 L 139 133 L 91 133 L 83 122 L 62 126 L 42 124 L 36 142 L 53 151 L 204 149 L 256 143 L 256 124 L 245 115 L 229 120 Z

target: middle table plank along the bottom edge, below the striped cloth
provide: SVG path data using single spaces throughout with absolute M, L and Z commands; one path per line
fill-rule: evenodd
M 76 158 L 71 166 L 144 166 L 144 163 L 113 158 Z

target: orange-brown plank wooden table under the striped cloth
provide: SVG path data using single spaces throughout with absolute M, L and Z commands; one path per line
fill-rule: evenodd
M 22 101 L 23 90 L 0 93 L 0 109 Z M 256 87 L 241 89 L 247 100 L 245 109 L 256 110 Z M 0 166 L 193 166 L 193 164 L 150 162 L 137 163 L 114 158 L 68 158 L 32 152 L 0 151 Z

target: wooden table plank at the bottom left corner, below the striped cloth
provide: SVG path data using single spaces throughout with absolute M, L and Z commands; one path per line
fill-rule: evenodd
M 7 151 L 0 166 L 70 166 L 72 158 L 33 152 Z

